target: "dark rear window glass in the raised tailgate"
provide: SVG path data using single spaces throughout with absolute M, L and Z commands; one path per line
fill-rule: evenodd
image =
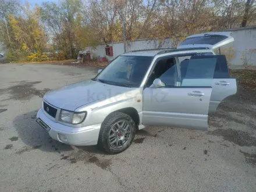
M 224 35 L 209 35 L 209 36 L 201 36 L 201 37 L 190 37 L 186 38 L 180 45 L 193 45 L 193 44 L 208 44 L 208 45 L 215 45 L 218 42 L 221 42 L 228 38 L 227 36 Z M 180 46 L 179 45 L 179 46 Z

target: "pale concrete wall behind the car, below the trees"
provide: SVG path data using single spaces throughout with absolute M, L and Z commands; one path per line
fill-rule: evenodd
M 244 68 L 245 65 L 256 66 L 256 26 L 239 29 L 232 29 L 232 36 L 234 42 L 229 45 L 221 47 L 221 54 L 225 54 L 229 61 L 230 67 Z M 108 61 L 116 58 L 116 56 L 123 54 L 123 42 L 108 43 L 113 47 L 113 56 L 105 55 L 106 45 L 98 45 L 96 48 L 87 47 L 91 52 L 91 58 L 106 57 Z M 126 52 L 140 50 L 140 49 L 157 49 L 157 48 L 172 48 L 176 47 L 172 44 L 172 40 L 166 38 L 165 40 L 136 40 L 126 42 Z

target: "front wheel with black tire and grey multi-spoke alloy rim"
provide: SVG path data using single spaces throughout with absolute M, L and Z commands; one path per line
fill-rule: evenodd
M 123 127 L 126 127 L 126 129 L 122 128 L 122 125 Z M 129 115 L 122 112 L 113 112 L 108 115 L 101 124 L 98 147 L 108 154 L 118 154 L 123 152 L 133 142 L 135 132 L 136 125 L 134 120 Z M 115 143 L 112 143 L 113 141 Z

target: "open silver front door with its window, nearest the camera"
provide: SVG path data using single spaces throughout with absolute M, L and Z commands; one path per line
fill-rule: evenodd
M 181 83 L 175 78 L 179 63 L 170 67 L 159 77 L 165 86 L 143 91 L 143 125 L 207 130 L 215 65 L 216 58 L 190 60 Z

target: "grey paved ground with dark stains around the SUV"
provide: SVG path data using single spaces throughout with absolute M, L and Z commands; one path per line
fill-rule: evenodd
M 0 65 L 0 191 L 256 191 L 255 91 L 241 84 L 208 132 L 149 126 L 118 155 L 52 140 L 35 122 L 42 95 L 96 73 Z

